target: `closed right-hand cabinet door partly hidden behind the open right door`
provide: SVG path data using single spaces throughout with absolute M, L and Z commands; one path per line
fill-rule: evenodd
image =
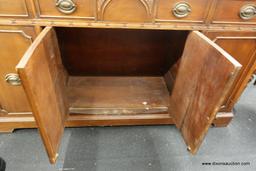
M 256 33 L 208 31 L 205 35 L 243 65 L 221 108 L 231 112 L 256 69 Z

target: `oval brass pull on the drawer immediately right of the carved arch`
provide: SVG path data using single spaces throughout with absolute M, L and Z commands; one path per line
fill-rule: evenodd
M 187 2 L 178 2 L 174 5 L 172 13 L 177 18 L 184 18 L 191 13 L 192 9 L 189 3 Z

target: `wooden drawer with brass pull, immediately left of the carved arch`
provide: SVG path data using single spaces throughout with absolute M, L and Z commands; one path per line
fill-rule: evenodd
M 95 0 L 35 0 L 41 18 L 95 18 Z

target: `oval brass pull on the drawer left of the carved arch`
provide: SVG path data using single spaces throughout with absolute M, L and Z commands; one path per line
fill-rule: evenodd
M 56 7 L 64 14 L 71 14 L 76 10 L 76 4 L 73 0 L 57 0 Z

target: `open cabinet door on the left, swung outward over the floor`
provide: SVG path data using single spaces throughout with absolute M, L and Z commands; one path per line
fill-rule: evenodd
M 55 163 L 68 112 L 65 95 L 66 72 L 52 27 L 46 27 L 39 34 L 16 69 L 30 101 L 50 162 Z

